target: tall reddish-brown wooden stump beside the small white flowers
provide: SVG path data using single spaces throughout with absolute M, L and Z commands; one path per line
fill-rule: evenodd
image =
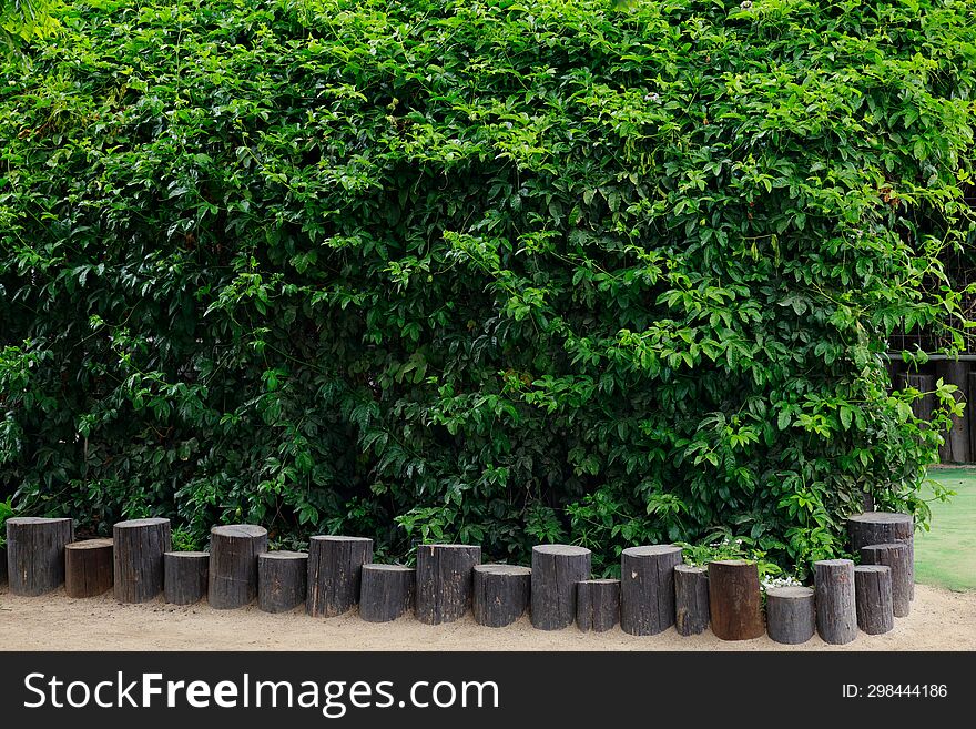
M 759 567 L 746 559 L 709 563 L 709 611 L 721 640 L 750 640 L 765 632 Z

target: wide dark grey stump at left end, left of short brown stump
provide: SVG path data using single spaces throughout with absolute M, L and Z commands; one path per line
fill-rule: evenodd
M 7 519 L 7 578 L 13 595 L 43 595 L 64 583 L 64 545 L 74 540 L 71 519 Z

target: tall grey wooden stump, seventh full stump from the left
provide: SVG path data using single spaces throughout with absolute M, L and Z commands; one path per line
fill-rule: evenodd
M 332 618 L 359 603 L 363 565 L 373 561 L 373 539 L 317 536 L 308 540 L 308 594 L 305 611 Z

